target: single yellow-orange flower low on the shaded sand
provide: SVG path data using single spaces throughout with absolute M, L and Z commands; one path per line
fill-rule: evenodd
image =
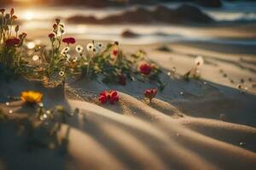
M 20 95 L 20 99 L 22 101 L 26 101 L 26 103 L 31 103 L 31 104 L 37 104 L 42 101 L 43 94 L 40 92 L 35 92 L 35 91 L 25 91 L 22 92 Z

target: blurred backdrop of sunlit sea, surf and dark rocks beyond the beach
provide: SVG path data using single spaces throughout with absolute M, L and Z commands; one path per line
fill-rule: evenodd
M 43 40 L 47 38 L 53 20 L 61 18 L 68 25 L 66 32 L 79 39 L 125 44 L 254 43 L 249 37 L 232 35 L 232 39 L 228 39 L 229 33 L 206 32 L 224 26 L 246 26 L 247 31 L 253 31 L 251 26 L 256 20 L 256 2 L 253 0 L 0 0 L 0 4 L 4 8 L 14 7 L 21 29 L 29 32 L 31 38 Z M 242 30 L 237 32 L 242 34 Z

